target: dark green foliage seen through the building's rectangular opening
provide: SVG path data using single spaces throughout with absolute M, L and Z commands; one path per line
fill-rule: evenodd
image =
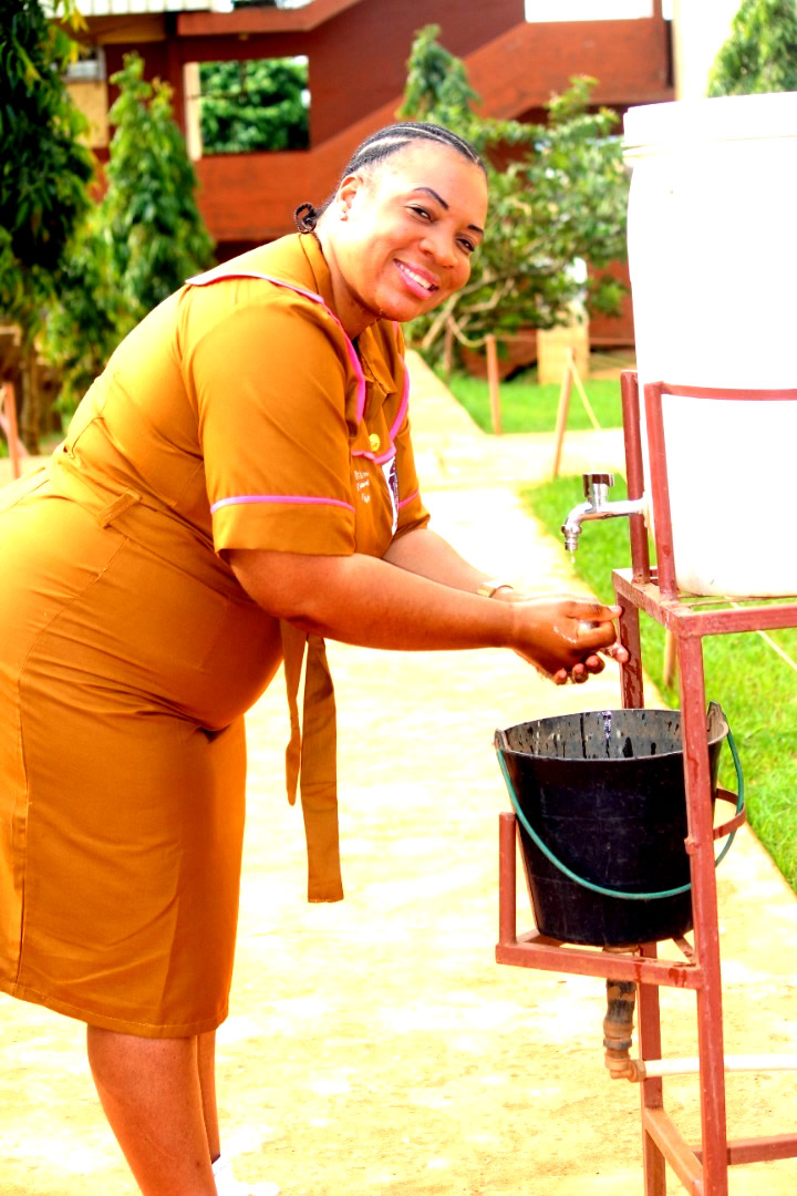
M 200 86 L 204 153 L 307 148 L 305 62 L 295 59 L 203 62 Z

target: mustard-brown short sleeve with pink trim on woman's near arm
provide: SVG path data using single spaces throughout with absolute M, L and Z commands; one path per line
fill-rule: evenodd
M 214 547 L 348 555 L 351 384 L 339 332 L 320 305 L 256 285 L 269 288 L 262 301 L 206 312 L 184 352 Z

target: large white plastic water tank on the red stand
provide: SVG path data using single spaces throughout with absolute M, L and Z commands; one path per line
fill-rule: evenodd
M 625 157 L 640 384 L 797 389 L 797 93 L 633 108 Z M 663 409 L 679 588 L 797 593 L 797 402 Z

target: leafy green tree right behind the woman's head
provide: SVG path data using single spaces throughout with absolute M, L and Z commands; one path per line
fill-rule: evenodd
M 617 117 L 588 111 L 594 80 L 574 79 L 564 96 L 553 97 L 546 126 L 482 117 L 465 65 L 439 44 L 437 33 L 429 25 L 416 36 L 398 115 L 446 124 L 479 150 L 488 161 L 490 213 L 468 283 L 410 328 L 413 343 L 431 356 L 446 328 L 460 343 L 480 348 L 490 334 L 564 323 L 583 288 L 574 263 L 586 258 L 602 270 L 625 257 L 627 206 L 620 142 L 609 136 Z M 493 165 L 508 153 L 515 160 Z M 591 279 L 593 310 L 615 312 L 621 295 L 611 275 Z

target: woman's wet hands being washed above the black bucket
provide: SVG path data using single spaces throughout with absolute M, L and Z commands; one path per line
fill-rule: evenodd
M 499 590 L 493 600 L 513 604 L 513 647 L 556 685 L 576 684 L 603 670 L 599 653 L 621 664 L 629 653 L 617 642 L 613 620 L 619 606 L 603 606 L 575 596 L 531 598 Z

